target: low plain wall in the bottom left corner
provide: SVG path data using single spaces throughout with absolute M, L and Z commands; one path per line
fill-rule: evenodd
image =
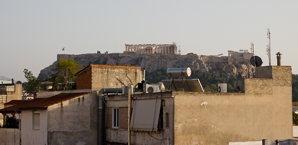
M 20 145 L 18 128 L 0 128 L 0 145 Z

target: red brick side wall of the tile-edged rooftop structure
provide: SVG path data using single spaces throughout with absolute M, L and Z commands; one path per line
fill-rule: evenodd
M 76 75 L 76 89 L 91 89 L 91 68 Z

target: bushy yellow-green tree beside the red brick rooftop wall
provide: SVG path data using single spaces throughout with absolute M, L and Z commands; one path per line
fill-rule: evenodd
M 57 89 L 58 83 L 63 84 L 63 88 L 70 89 L 71 84 L 75 81 L 74 74 L 82 69 L 81 64 L 74 59 L 61 57 L 57 60 L 57 64 L 51 69 L 55 73 L 51 75 L 53 80 L 53 89 Z

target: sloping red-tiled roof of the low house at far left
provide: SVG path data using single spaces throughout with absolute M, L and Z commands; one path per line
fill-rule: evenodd
M 61 93 L 52 97 L 36 98 L 36 99 L 32 99 L 26 102 L 16 104 L 14 106 L 0 109 L 0 113 L 11 113 L 11 112 L 15 112 L 18 110 L 25 110 L 25 109 L 44 109 L 48 106 L 51 106 L 66 100 L 70 100 L 75 97 L 80 97 L 86 94 L 89 94 L 89 93 Z

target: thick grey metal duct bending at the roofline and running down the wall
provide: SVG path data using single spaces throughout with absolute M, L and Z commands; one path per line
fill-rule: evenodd
M 117 92 L 122 93 L 122 88 L 103 88 L 98 92 L 98 145 L 104 145 L 105 136 L 105 105 L 103 101 L 103 94 Z

